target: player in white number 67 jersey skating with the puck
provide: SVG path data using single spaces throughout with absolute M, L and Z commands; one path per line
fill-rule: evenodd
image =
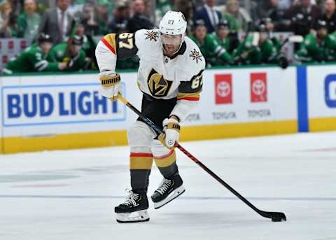
M 118 98 L 123 85 L 115 71 L 116 60 L 138 55 L 141 111 L 165 132 L 158 136 L 139 118 L 127 132 L 132 190 L 125 202 L 115 208 L 120 223 L 149 220 L 147 188 L 153 159 L 164 177 L 151 196 L 155 209 L 185 191 L 174 146 L 179 141 L 180 122 L 200 99 L 205 66 L 200 49 L 186 36 L 186 27 L 181 12 L 169 11 L 159 29 L 108 34 L 97 45 L 102 95 L 111 100 Z

